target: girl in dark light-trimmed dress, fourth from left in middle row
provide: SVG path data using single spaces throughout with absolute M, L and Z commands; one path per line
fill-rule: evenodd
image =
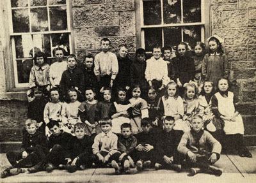
M 89 136 L 93 133 L 100 133 L 99 127 L 97 128 L 97 122 L 95 122 L 95 110 L 98 101 L 94 99 L 94 97 L 94 90 L 92 88 L 87 88 L 85 90 L 86 101 L 81 103 L 78 107 L 80 119 L 86 124 L 86 135 Z

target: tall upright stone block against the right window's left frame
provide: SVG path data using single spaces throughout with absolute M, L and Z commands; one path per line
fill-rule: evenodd
M 134 11 L 120 12 L 121 36 L 135 36 L 135 15 Z

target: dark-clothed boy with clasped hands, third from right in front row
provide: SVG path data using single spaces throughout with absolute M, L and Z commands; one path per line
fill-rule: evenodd
M 152 121 L 150 119 L 141 119 L 142 132 L 136 136 L 138 142 L 136 146 L 137 170 L 142 170 L 143 166 L 148 168 L 154 165 L 156 161 L 156 135 L 152 129 Z

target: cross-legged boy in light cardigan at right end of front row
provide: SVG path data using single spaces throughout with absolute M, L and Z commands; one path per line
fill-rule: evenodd
M 204 131 L 203 126 L 202 117 L 195 115 L 191 120 L 191 131 L 187 131 L 182 136 L 178 151 L 186 156 L 186 163 L 191 166 L 189 176 L 200 172 L 220 176 L 223 170 L 212 166 L 220 159 L 220 142 L 213 138 L 208 131 Z

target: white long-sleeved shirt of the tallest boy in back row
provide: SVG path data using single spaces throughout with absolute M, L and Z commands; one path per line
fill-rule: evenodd
M 118 61 L 115 54 L 111 52 L 100 52 L 95 55 L 94 64 L 94 73 L 96 77 L 111 75 L 111 79 L 115 80 L 118 73 Z

